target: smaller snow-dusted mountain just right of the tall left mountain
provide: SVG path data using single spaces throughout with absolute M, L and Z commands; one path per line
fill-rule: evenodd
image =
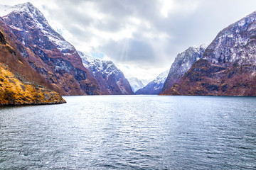
M 95 59 L 83 52 L 78 53 L 85 68 L 90 70 L 93 77 L 97 79 L 102 90 L 107 91 L 105 94 L 134 94 L 129 81 L 113 62 Z

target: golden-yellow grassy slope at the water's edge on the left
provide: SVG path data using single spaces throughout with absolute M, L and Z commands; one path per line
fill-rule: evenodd
M 65 103 L 60 94 L 28 81 L 0 63 L 0 106 Z

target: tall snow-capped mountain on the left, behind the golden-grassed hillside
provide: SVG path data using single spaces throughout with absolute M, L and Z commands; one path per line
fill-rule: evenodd
M 23 58 L 62 95 L 102 94 L 73 45 L 50 27 L 31 3 L 0 6 L 4 23 L 14 33 Z

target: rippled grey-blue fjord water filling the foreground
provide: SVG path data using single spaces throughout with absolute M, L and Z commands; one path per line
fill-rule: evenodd
M 256 169 L 256 98 L 64 98 L 0 108 L 0 169 Z

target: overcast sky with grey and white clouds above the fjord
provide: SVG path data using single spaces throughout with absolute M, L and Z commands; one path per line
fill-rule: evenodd
M 220 30 L 256 11 L 255 0 L 30 1 L 77 50 L 112 60 L 126 77 L 154 79 L 178 52 L 210 44 Z

